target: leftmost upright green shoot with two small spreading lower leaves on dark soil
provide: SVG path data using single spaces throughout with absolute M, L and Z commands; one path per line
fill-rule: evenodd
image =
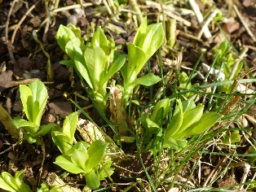
M 40 126 L 48 98 L 46 86 L 39 80 L 33 81 L 29 86 L 20 85 L 20 98 L 28 120 L 19 116 L 12 123 L 26 131 L 24 137 L 29 143 L 41 144 L 39 136 L 45 135 L 55 126 L 54 123 Z

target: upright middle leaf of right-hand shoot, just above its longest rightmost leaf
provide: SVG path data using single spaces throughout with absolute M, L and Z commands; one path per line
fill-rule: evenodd
M 192 124 L 195 124 L 197 121 L 201 119 L 201 116 L 203 115 L 204 106 L 202 104 L 196 106 L 192 110 L 186 112 L 183 116 L 183 124 L 179 128 L 179 130 L 174 133 L 174 138 L 180 138 L 179 135 L 183 133 L 186 129 L 188 129 L 189 126 Z

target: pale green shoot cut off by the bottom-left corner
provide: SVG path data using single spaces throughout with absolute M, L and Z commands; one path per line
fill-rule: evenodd
M 2 172 L 0 176 L 0 188 L 10 192 L 30 192 L 29 185 L 24 184 L 22 173 L 26 169 L 16 171 L 15 177 L 8 172 Z

